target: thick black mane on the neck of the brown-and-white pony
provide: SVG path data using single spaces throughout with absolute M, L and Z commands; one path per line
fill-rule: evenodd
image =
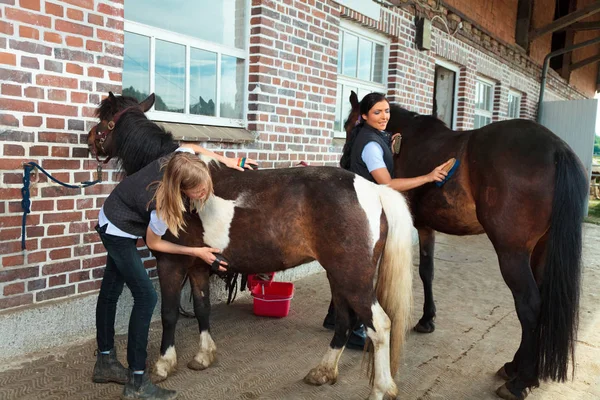
M 119 159 L 120 168 L 127 175 L 177 148 L 171 132 L 150 121 L 138 109 L 128 110 L 119 118 L 113 137 L 113 155 Z

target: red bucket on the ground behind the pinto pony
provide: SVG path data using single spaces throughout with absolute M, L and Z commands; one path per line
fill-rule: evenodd
M 256 285 L 252 288 L 254 314 L 262 317 L 285 317 L 290 312 L 290 302 L 294 297 L 292 282 L 271 282 L 270 285 Z

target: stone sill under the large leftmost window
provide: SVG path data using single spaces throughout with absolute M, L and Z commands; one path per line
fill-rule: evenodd
M 156 122 L 173 134 L 175 140 L 189 142 L 251 143 L 256 141 L 254 134 L 244 128 L 181 124 L 176 122 Z

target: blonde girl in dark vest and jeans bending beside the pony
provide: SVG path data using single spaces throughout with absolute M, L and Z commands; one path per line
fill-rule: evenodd
M 128 176 L 106 199 L 98 217 L 96 230 L 107 251 L 106 269 L 96 306 L 96 365 L 92 380 L 98 383 L 125 384 L 122 399 L 174 399 L 177 393 L 155 386 L 146 372 L 146 348 L 150 320 L 157 294 L 137 251 L 137 240 L 144 237 L 154 251 L 200 257 L 207 264 L 216 260 L 219 249 L 186 247 L 163 240 L 167 229 L 178 236 L 185 229 L 185 204 L 197 200 L 203 204 L 213 192 L 207 165 L 194 152 L 224 159 L 195 145 L 184 145 L 173 154 L 153 161 Z M 190 154 L 192 153 L 192 154 Z M 236 169 L 250 159 L 236 162 L 224 159 Z M 221 261 L 219 268 L 225 270 Z M 134 299 L 127 338 L 127 370 L 117 360 L 114 347 L 114 324 L 117 301 L 123 285 Z

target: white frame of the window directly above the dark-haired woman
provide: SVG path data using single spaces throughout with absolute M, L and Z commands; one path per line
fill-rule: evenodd
M 390 59 L 390 40 L 382 34 L 378 34 L 377 32 L 373 32 L 370 29 L 363 28 L 354 23 L 342 20 L 340 21 L 340 46 L 338 53 L 338 64 L 342 63 L 342 54 L 343 54 L 343 44 L 342 44 L 342 31 L 348 32 L 352 35 L 358 36 L 358 38 L 366 39 L 370 42 L 380 44 L 383 46 L 383 71 L 382 71 L 382 83 L 366 81 L 359 78 L 354 78 L 350 76 L 342 75 L 338 73 L 337 87 L 338 87 L 338 99 L 336 100 L 336 113 L 337 118 L 340 118 L 340 130 L 337 131 L 334 129 L 333 137 L 334 138 L 345 138 L 346 132 L 344 131 L 344 122 L 348 115 L 342 115 L 342 104 L 343 102 L 347 102 L 347 98 L 342 98 L 341 103 L 337 104 L 340 100 L 339 97 L 343 95 L 344 86 L 349 86 L 351 88 L 356 88 L 359 91 L 368 91 L 368 92 L 381 92 L 387 94 L 387 76 L 388 76 L 388 63 Z M 360 100 L 360 98 L 359 98 Z

